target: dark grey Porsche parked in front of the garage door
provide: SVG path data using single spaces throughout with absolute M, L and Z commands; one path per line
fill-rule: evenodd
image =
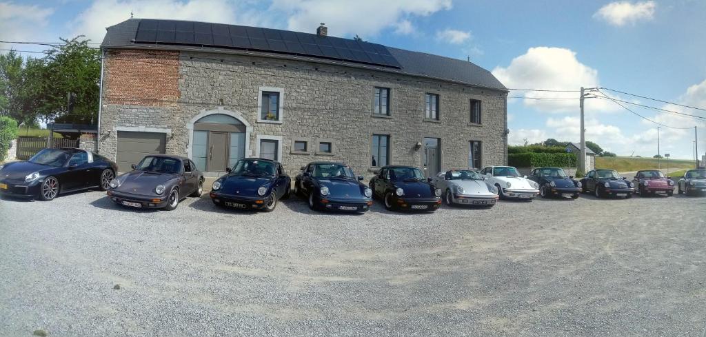
M 189 158 L 150 154 L 132 168 L 110 182 L 107 195 L 116 204 L 171 211 L 187 196 L 203 192 L 203 173 Z

